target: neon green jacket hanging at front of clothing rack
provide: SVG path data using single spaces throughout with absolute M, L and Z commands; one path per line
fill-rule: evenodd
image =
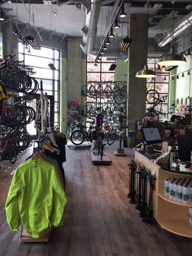
M 13 175 L 6 199 L 6 219 L 13 231 L 21 224 L 39 238 L 53 225 L 63 224 L 67 198 L 54 165 L 40 158 L 21 164 Z

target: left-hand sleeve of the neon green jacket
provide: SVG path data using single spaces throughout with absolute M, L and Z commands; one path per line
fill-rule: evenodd
M 8 196 L 5 203 L 6 220 L 12 231 L 17 231 L 19 228 L 19 193 L 22 188 L 22 180 L 20 179 L 20 171 L 17 168 L 13 175 L 12 183 L 8 191 Z

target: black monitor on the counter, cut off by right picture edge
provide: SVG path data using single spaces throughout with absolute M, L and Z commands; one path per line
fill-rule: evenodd
M 192 151 L 192 137 L 179 135 L 178 138 L 179 160 L 190 162 Z

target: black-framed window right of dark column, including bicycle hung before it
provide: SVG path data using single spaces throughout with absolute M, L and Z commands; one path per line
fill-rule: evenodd
M 157 65 L 157 58 L 148 58 L 148 68 L 156 71 L 156 77 L 147 79 L 146 113 L 154 108 L 159 120 L 168 118 L 170 72 Z

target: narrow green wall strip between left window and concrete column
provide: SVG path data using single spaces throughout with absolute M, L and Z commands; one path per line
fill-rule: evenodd
M 64 133 L 67 131 L 67 58 L 61 58 L 60 130 Z

